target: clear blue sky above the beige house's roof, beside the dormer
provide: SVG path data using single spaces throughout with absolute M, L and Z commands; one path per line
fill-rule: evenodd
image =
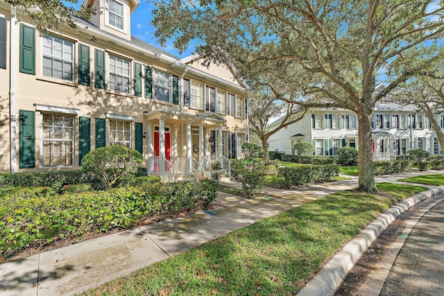
M 78 0 L 78 3 L 73 5 L 72 3 L 67 3 L 69 6 L 73 6 L 74 8 L 79 8 L 82 0 Z M 154 32 L 155 28 L 151 25 L 151 11 L 155 8 L 153 4 L 148 4 L 146 1 L 141 0 L 137 9 L 131 15 L 131 35 L 139 38 L 140 40 L 144 40 L 144 42 L 152 44 L 153 46 L 160 47 L 164 51 L 167 51 L 173 55 L 176 55 L 180 58 L 185 58 L 191 55 L 194 51 L 192 46 L 187 49 L 182 54 L 173 48 L 173 42 L 169 42 L 166 47 L 161 47 L 157 40 L 155 39 Z

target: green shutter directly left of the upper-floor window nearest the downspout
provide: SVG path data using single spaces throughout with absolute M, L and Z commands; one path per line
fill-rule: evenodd
M 34 28 L 20 24 L 20 72 L 35 75 Z

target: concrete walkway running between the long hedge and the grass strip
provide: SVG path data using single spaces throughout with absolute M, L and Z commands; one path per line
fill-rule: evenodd
M 436 172 L 427 172 L 436 173 Z M 377 177 L 397 182 L 407 173 Z M 223 182 L 241 186 L 239 182 Z M 264 188 L 265 198 L 246 200 L 219 193 L 220 207 L 76 243 L 0 265 L 0 295 L 70 295 L 185 252 L 305 202 L 357 186 L 357 178 L 293 191 Z

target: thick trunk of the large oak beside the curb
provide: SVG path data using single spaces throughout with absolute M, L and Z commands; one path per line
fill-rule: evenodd
M 373 112 L 370 109 L 358 111 L 358 137 L 359 137 L 359 191 L 377 193 L 375 175 L 373 174 L 373 149 L 372 149 L 372 119 Z

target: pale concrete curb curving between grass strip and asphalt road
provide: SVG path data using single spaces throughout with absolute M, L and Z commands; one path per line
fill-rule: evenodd
M 350 269 L 357 263 L 362 254 L 375 241 L 377 236 L 386 229 L 390 223 L 395 220 L 400 214 L 407 211 L 410 207 L 430 198 L 434 195 L 444 192 L 444 186 L 429 189 L 422 193 L 403 200 L 384 211 L 379 217 L 367 225 L 355 238 L 347 243 L 339 253 L 333 256 L 325 266 L 311 279 L 302 290 L 299 291 L 298 296 L 330 296 L 334 295 L 336 289 L 341 285 L 344 277 L 348 274 Z

